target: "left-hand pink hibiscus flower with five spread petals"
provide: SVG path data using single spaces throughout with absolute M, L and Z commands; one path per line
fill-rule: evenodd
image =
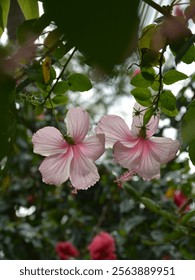
M 61 185 L 70 179 L 77 189 L 88 189 L 99 180 L 97 160 L 105 151 L 105 136 L 88 136 L 89 115 L 80 107 L 66 115 L 67 136 L 55 127 L 39 129 L 32 137 L 34 153 L 46 156 L 39 167 L 46 184 Z

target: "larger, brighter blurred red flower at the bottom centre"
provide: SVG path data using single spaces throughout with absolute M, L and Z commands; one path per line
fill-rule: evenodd
M 92 260 L 116 260 L 115 241 L 107 232 L 96 235 L 88 249 Z

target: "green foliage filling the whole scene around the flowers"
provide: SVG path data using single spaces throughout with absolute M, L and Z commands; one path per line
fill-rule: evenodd
M 194 259 L 195 79 L 177 69 L 195 61 L 194 2 L 181 5 L 185 17 L 174 14 L 175 3 L 182 1 L 166 7 L 122 1 L 113 10 L 113 1 L 96 1 L 93 7 L 85 1 L 87 9 L 82 1 L 76 9 L 63 1 L 66 11 L 61 0 L 42 2 L 45 13 L 38 17 L 38 1 L 18 0 L 25 21 L 17 26 L 17 41 L 0 46 L 0 258 L 57 259 L 56 244 L 70 241 L 78 258 L 89 259 L 88 245 L 105 231 L 116 241 L 118 259 Z M 108 6 L 99 19 L 101 2 Z M 139 2 L 163 17 L 143 28 Z M 1 33 L 8 11 L 9 1 L 1 1 Z M 140 73 L 133 76 L 135 67 Z M 177 82 L 183 82 L 178 94 Z M 69 182 L 44 184 L 33 133 L 45 126 L 65 131 L 65 114 L 78 105 L 87 108 L 94 126 L 122 95 L 130 105 L 134 98 L 146 107 L 145 127 L 161 114 L 158 136 L 176 131 L 180 151 L 162 166 L 161 178 L 146 182 L 134 176 L 118 188 L 114 181 L 124 170 L 108 149 L 97 162 L 101 179 L 87 191 L 74 194 Z M 175 205 L 175 190 L 188 198 L 185 205 Z

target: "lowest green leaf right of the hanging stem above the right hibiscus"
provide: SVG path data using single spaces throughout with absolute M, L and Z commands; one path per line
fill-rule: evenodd
M 164 114 L 170 117 L 177 115 L 176 98 L 170 90 L 164 90 L 160 95 L 160 107 Z

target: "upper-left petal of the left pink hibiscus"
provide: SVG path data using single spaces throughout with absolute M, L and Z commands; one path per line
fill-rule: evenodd
M 51 156 L 67 151 L 67 143 L 58 129 L 46 126 L 39 129 L 32 137 L 34 153 Z

